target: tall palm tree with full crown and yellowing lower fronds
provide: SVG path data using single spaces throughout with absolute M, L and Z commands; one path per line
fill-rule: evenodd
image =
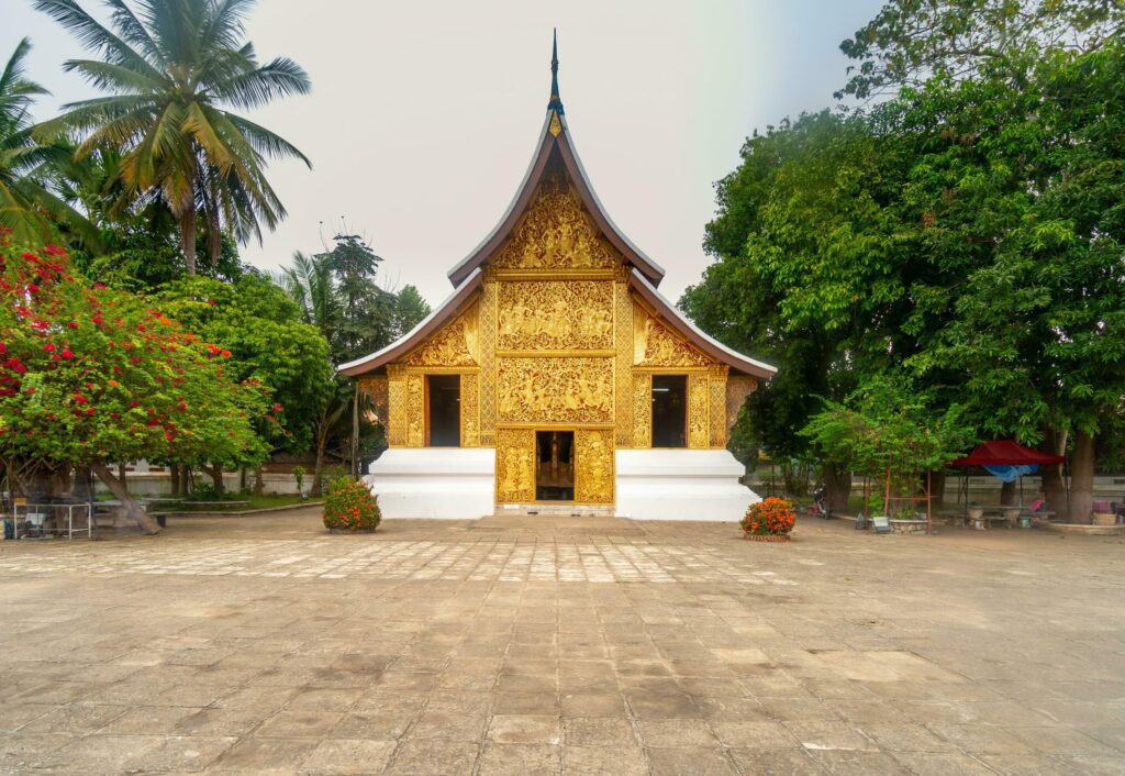
M 35 6 L 71 30 L 100 60 L 70 60 L 106 97 L 63 107 L 40 125 L 43 136 L 78 132 L 79 158 L 100 148 L 122 153 L 122 180 L 133 196 L 160 196 L 179 222 L 188 274 L 196 270 L 202 215 L 212 251 L 217 232 L 241 241 L 273 229 L 285 207 L 266 179 L 267 158 L 308 159 L 266 127 L 232 113 L 307 93 L 308 75 L 292 60 L 260 64 L 245 42 L 243 17 L 253 0 L 106 0 L 109 29 L 74 0 Z M 217 260 L 213 255 L 212 260 Z

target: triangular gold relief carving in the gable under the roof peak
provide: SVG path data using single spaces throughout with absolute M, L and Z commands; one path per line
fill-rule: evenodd
M 497 269 L 612 269 L 616 255 L 598 239 L 578 197 L 561 177 L 543 181 L 531 207 L 497 255 Z

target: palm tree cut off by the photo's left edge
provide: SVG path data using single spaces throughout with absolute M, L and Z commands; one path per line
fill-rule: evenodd
M 0 228 L 11 230 L 17 240 L 39 241 L 56 222 L 94 241 L 90 223 L 52 190 L 56 166 L 68 160 L 66 149 L 40 145 L 32 137 L 28 110 L 36 97 L 48 92 L 25 77 L 24 57 L 30 47 L 30 41 L 20 41 L 0 73 Z

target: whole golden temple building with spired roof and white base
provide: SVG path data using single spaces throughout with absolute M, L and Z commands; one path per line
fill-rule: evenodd
M 531 166 L 449 271 L 453 293 L 340 367 L 386 430 L 367 480 L 387 517 L 738 518 L 757 497 L 727 435 L 775 369 L 659 294 L 664 270 L 613 224 L 578 160 L 555 51 Z

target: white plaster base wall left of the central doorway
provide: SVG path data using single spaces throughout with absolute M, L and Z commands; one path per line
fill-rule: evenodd
M 496 451 L 490 447 L 393 447 L 363 478 L 384 517 L 461 519 L 496 509 Z

